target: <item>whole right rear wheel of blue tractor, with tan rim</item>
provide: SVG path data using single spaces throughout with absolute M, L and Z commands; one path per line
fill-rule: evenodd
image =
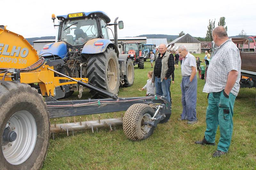
M 117 53 L 108 47 L 103 53 L 90 55 L 86 68 L 89 82 L 100 89 L 117 94 L 120 85 L 119 63 Z M 92 98 L 106 98 L 106 96 L 90 90 Z

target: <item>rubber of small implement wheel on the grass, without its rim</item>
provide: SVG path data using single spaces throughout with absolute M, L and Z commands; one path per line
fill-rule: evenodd
M 137 104 L 133 104 L 132 106 L 130 106 L 127 109 L 127 111 L 125 112 L 124 119 L 123 119 L 123 130 L 124 130 L 125 136 L 128 137 L 129 139 L 131 139 L 132 141 L 138 141 L 141 139 L 145 139 L 145 138 L 151 136 L 151 134 L 154 131 L 154 127 L 153 127 L 151 134 L 149 134 L 147 137 L 139 136 L 137 123 L 140 118 L 140 113 L 146 107 L 149 107 L 149 106 L 146 104 L 137 103 Z M 151 108 L 151 109 L 152 109 L 152 112 L 154 113 L 153 108 Z

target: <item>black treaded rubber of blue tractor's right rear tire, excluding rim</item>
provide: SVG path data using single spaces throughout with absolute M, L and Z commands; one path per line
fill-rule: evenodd
M 107 63 L 107 56 L 108 53 L 113 52 L 116 54 L 116 51 L 114 50 L 114 48 L 112 47 L 108 47 L 103 53 L 99 53 L 99 54 L 95 54 L 95 55 L 90 55 L 89 59 L 88 59 L 88 64 L 87 64 L 87 78 L 89 80 L 90 83 L 92 83 L 93 85 L 99 87 L 100 89 L 103 90 L 108 90 L 108 85 L 107 85 L 107 81 L 106 81 L 106 73 L 105 73 L 105 68 L 106 63 Z M 118 86 L 118 88 L 115 88 L 115 92 L 112 92 L 114 94 L 117 94 L 119 91 L 119 64 L 118 64 L 118 60 L 116 57 L 116 66 L 117 66 L 117 83 L 116 86 Z M 95 92 L 93 90 L 90 90 L 90 93 L 92 94 L 92 98 L 106 98 L 106 96 Z

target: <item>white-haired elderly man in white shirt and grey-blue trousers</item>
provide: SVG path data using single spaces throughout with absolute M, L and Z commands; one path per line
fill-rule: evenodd
M 196 118 L 196 96 L 197 96 L 197 79 L 196 79 L 196 58 L 188 52 L 185 45 L 180 45 L 179 54 L 183 58 L 181 65 L 182 81 L 181 103 L 183 107 L 179 120 L 188 120 L 188 124 L 197 122 Z

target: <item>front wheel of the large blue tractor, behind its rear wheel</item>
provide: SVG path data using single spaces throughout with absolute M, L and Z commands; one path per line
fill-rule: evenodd
M 124 87 L 130 87 L 134 81 L 134 66 L 131 59 L 126 60 L 126 75 L 124 75 Z

